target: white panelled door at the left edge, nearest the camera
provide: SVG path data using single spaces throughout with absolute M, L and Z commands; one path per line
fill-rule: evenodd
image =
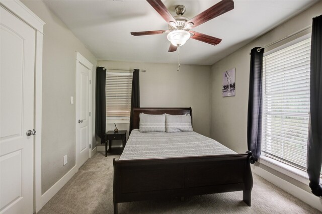
M 0 213 L 33 213 L 36 31 L 0 10 Z

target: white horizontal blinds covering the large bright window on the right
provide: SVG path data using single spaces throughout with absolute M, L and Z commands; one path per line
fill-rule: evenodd
M 310 39 L 263 58 L 262 151 L 306 170 Z

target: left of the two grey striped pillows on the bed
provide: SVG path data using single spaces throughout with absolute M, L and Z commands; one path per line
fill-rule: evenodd
M 165 115 L 146 115 L 140 114 L 140 132 L 165 132 Z

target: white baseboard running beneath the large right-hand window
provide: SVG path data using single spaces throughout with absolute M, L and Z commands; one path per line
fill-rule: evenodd
M 307 192 L 304 189 L 299 188 L 298 186 L 295 186 L 295 185 L 291 184 L 290 182 L 287 182 L 286 180 L 284 180 L 276 175 L 273 175 L 272 173 L 262 169 L 261 167 L 258 167 L 258 166 L 252 167 L 252 171 L 255 174 L 263 177 L 265 180 L 268 180 L 269 182 L 273 183 L 274 185 L 280 187 L 284 191 L 299 198 L 300 200 L 313 206 L 314 208 L 322 211 L 322 200 L 319 197 L 316 197 L 312 193 Z

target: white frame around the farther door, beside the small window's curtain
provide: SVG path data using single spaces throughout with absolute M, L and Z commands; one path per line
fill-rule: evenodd
M 92 145 L 93 145 L 93 142 L 92 142 L 92 118 L 93 118 L 93 111 L 92 111 L 92 84 L 93 84 L 93 81 L 92 81 L 92 76 L 93 76 L 93 64 L 88 60 L 86 59 L 81 53 L 77 52 L 76 51 L 76 77 L 75 77 L 75 80 L 76 80 L 76 84 L 75 84 L 75 91 L 76 91 L 76 96 L 77 97 L 77 63 L 81 63 L 82 65 L 84 65 L 86 68 L 89 69 L 90 71 L 90 83 L 89 83 L 89 111 L 91 113 L 91 116 L 89 116 L 89 144 L 90 144 L 90 154 L 89 154 L 89 157 L 91 158 L 92 157 Z M 78 158 L 78 153 L 77 153 L 77 125 L 78 125 L 78 122 L 77 122 L 77 100 L 74 102 L 75 103 L 75 157 L 76 157 L 76 168 L 79 169 L 79 158 Z

